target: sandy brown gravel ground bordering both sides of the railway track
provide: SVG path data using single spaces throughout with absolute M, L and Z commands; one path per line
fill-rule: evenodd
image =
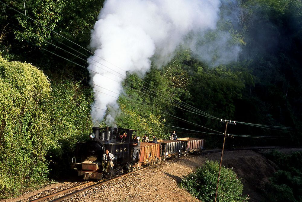
M 283 151 L 288 153 L 293 150 Z M 239 150 L 224 152 L 223 155 L 223 166 L 232 168 L 238 174 L 244 184 L 244 194 L 249 194 L 251 198 L 250 202 L 263 201 L 261 190 L 265 182 L 268 182 L 268 178 L 276 171 L 276 165 L 262 154 L 265 152 L 268 152 L 268 150 L 259 152 Z M 140 172 L 109 182 L 104 186 L 94 187 L 66 201 L 198 201 L 187 191 L 180 189 L 178 183 L 183 177 L 196 170 L 197 167 L 202 166 L 206 159 L 220 161 L 220 156 L 221 153 L 209 153 L 159 163 Z M 3 201 L 30 201 L 75 184 L 75 182 L 64 181 Z

